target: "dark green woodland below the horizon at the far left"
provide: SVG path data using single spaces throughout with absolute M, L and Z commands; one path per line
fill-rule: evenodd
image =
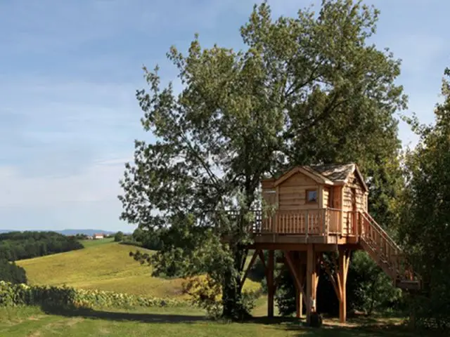
M 0 258 L 15 261 L 82 249 L 75 237 L 57 232 L 8 232 L 0 234 Z

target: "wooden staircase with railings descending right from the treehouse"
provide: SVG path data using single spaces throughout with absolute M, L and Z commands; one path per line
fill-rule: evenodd
M 367 212 L 358 212 L 359 243 L 369 256 L 378 263 L 400 289 L 420 289 L 420 279 L 411 267 L 406 265 L 406 259 L 400 247 L 373 220 Z

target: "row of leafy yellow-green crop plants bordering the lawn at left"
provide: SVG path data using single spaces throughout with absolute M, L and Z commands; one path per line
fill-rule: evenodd
M 0 281 L 0 305 L 49 305 L 57 308 L 175 307 L 185 300 L 150 298 L 68 286 L 27 286 Z

